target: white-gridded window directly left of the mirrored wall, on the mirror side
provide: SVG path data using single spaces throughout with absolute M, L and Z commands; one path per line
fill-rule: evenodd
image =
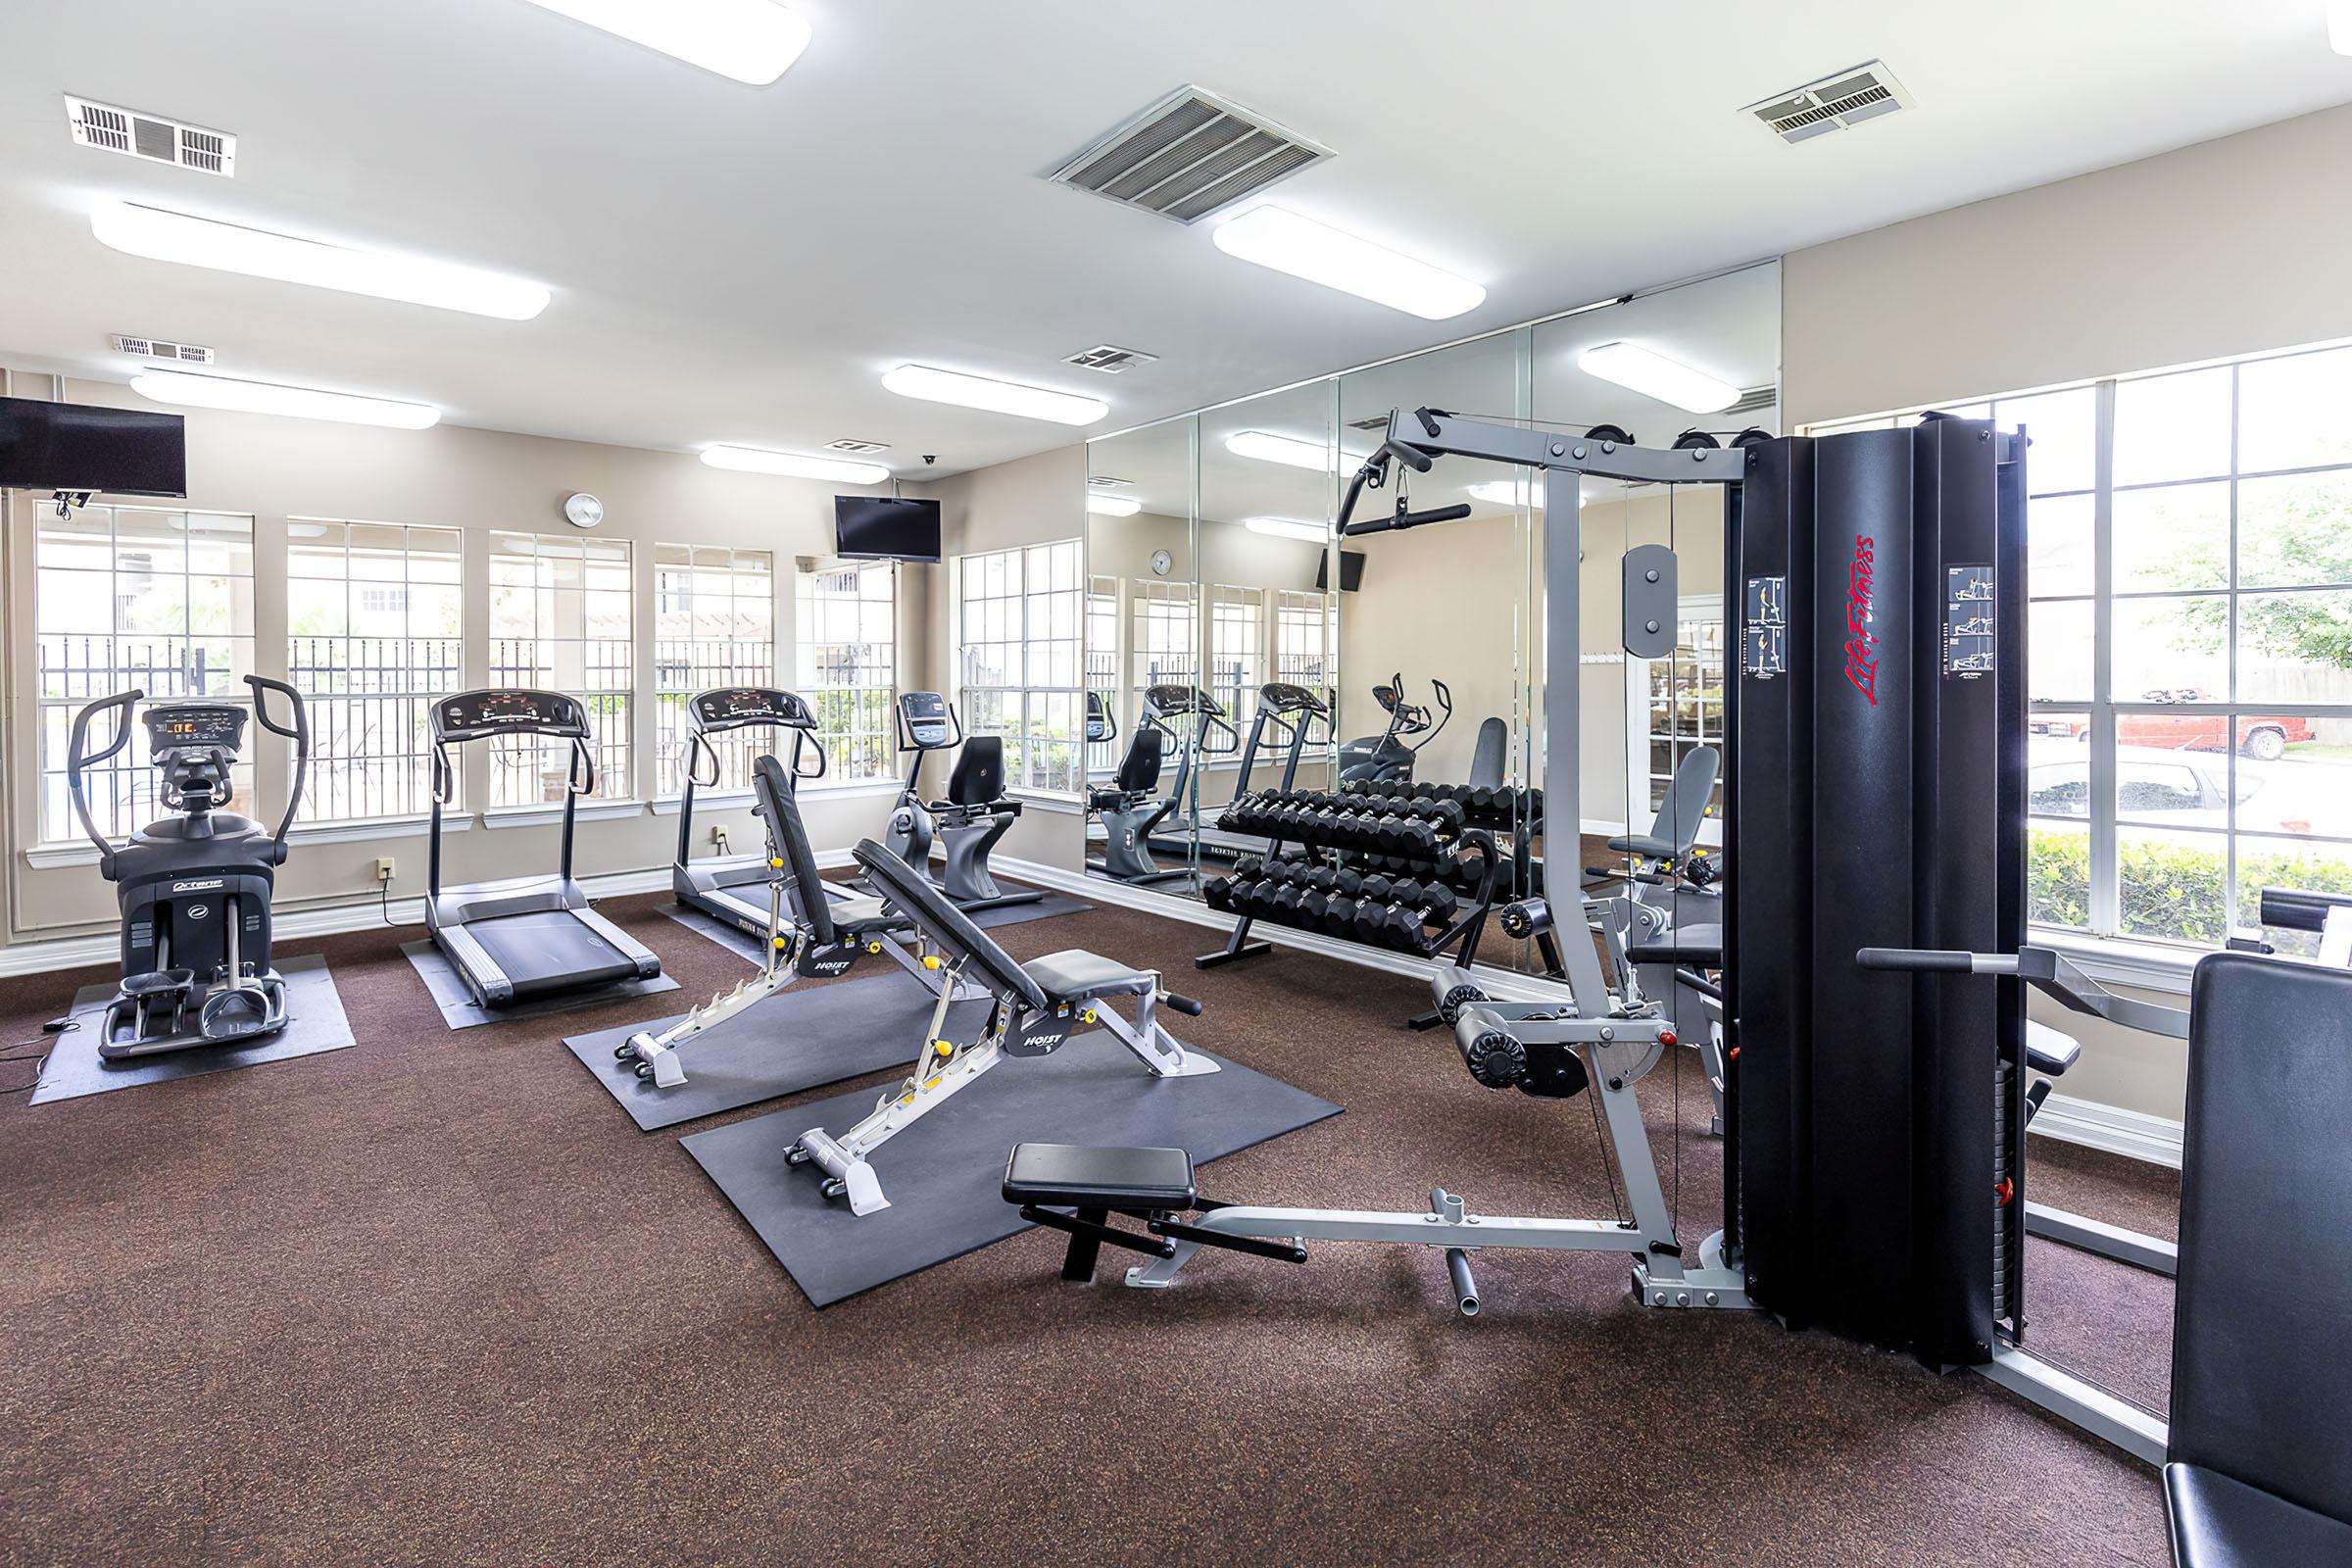
M 957 559 L 957 691 L 964 729 L 1004 736 L 1007 785 L 1077 792 L 1080 541 Z

